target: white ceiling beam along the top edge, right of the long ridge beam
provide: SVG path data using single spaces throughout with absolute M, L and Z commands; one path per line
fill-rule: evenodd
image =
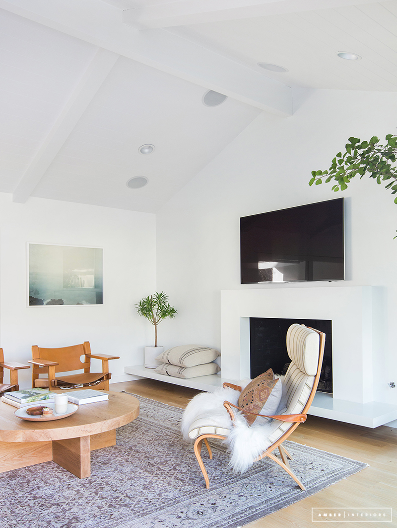
M 367 3 L 369 0 L 179 0 L 128 9 L 124 11 L 123 21 L 144 30 Z

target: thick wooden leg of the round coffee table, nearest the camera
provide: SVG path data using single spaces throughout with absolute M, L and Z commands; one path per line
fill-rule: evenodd
M 90 437 L 52 441 L 52 459 L 79 478 L 91 475 Z

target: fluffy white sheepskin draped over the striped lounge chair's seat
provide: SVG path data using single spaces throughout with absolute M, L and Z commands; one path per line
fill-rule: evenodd
M 188 433 L 190 425 L 197 418 L 208 417 L 215 420 L 217 425 L 230 429 L 229 435 L 224 440 L 231 451 L 229 466 L 235 472 L 244 473 L 249 469 L 272 442 L 268 440 L 270 433 L 277 429 L 280 422 L 257 418 L 249 426 L 243 413 L 236 411 L 232 423 L 229 413 L 223 403 L 229 401 L 237 405 L 240 393 L 230 388 L 217 389 L 215 392 L 202 392 L 197 394 L 188 404 L 182 417 L 181 430 L 183 438 L 190 440 Z M 286 412 L 286 394 L 283 385 L 283 396 L 277 409 L 277 414 Z M 191 441 L 191 440 L 190 440 Z

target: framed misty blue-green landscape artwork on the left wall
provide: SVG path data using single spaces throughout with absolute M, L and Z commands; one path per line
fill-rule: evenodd
M 29 306 L 103 304 L 103 249 L 28 243 Z

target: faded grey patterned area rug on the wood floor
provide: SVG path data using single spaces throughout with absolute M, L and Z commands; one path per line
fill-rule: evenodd
M 214 441 L 213 460 L 203 449 L 207 490 L 192 446 L 181 439 L 182 411 L 138 398 L 140 416 L 118 429 L 117 445 L 91 453 L 91 477 L 54 462 L 1 474 L 0 528 L 237 528 L 366 467 L 286 442 L 303 492 L 270 460 L 233 474 L 225 446 Z

